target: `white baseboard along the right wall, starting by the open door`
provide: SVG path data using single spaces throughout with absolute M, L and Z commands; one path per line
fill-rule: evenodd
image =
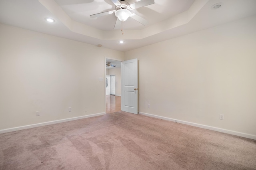
M 223 132 L 223 133 L 227 133 L 227 134 L 233 134 L 233 135 L 236 135 L 236 136 L 241 136 L 241 137 L 245 137 L 245 138 L 250 138 L 250 139 L 256 140 L 256 135 L 253 135 L 253 134 L 236 132 L 236 131 L 233 131 L 233 130 L 227 130 L 227 129 L 223 129 L 223 128 L 211 127 L 211 126 L 207 126 L 207 125 L 201 125 L 201 124 L 197 124 L 197 123 L 186 122 L 186 121 L 181 121 L 181 120 L 177 120 L 177 119 L 171 119 L 171 118 L 168 118 L 168 117 L 162 117 L 162 116 L 152 115 L 152 114 L 143 113 L 143 112 L 139 112 L 139 114 L 140 115 L 149 116 L 149 117 L 158 118 L 158 119 L 163 119 L 163 120 L 166 120 L 166 121 L 182 123 L 182 124 L 185 124 L 185 125 L 205 128 L 205 129 L 209 129 L 209 130 L 214 130 L 214 131 Z

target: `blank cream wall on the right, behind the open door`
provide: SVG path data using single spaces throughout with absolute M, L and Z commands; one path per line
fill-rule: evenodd
M 256 16 L 125 52 L 139 111 L 256 135 L 255 30 Z

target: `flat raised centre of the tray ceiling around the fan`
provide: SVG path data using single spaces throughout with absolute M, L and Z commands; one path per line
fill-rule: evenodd
M 98 28 L 100 30 L 113 30 L 116 23 L 116 16 L 110 14 L 98 18 L 90 18 L 92 14 L 115 10 L 115 5 L 111 0 L 55 0 L 57 4 L 74 21 Z M 126 0 L 129 4 L 140 0 Z M 155 4 L 132 10 L 135 14 L 146 19 L 149 24 L 143 26 L 136 20 L 128 18 L 124 22 L 125 30 L 141 30 L 166 20 L 172 16 L 180 14 L 190 8 L 194 0 L 155 0 Z M 175 4 L 175 6 L 174 6 Z

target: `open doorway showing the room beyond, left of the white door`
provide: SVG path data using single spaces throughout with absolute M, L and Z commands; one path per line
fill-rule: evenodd
M 122 61 L 106 59 L 106 113 L 121 111 Z

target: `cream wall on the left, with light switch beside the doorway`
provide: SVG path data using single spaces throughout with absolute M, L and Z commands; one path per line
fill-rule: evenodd
M 104 113 L 105 57 L 124 52 L 0 24 L 0 130 Z

